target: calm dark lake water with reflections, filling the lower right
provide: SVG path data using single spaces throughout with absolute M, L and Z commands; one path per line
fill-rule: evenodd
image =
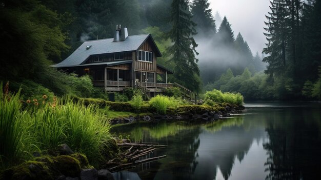
M 116 179 L 321 179 L 321 104 L 246 104 L 207 124 L 141 123 L 112 131 L 168 145 L 160 161 L 114 173 Z M 149 156 L 148 156 L 149 157 Z

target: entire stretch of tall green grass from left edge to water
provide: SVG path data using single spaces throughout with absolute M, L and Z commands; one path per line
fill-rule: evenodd
M 64 143 L 86 154 L 93 165 L 110 151 L 110 124 L 98 106 L 75 104 L 66 97 L 54 99 L 52 104 L 39 104 L 36 99 L 31 103 L 28 99 L 23 109 L 20 93 L 4 93 L 2 88 L 1 85 L 0 166 L 14 165 L 30 158 L 28 154 L 34 151 L 55 150 Z

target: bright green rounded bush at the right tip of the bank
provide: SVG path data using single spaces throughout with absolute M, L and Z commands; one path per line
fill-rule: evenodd
M 216 103 L 229 103 L 231 105 L 242 105 L 244 101 L 240 93 L 222 93 L 222 91 L 213 89 L 205 93 L 204 102 L 206 105 L 214 106 Z

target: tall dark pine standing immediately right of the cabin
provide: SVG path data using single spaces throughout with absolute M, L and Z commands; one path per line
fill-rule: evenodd
M 172 55 L 171 61 L 175 64 L 175 78 L 187 88 L 199 92 L 199 69 L 198 59 L 195 57 L 197 44 L 193 35 L 196 35 L 196 24 L 191 20 L 192 15 L 188 9 L 187 0 L 173 0 L 171 4 L 170 22 L 172 29 L 167 36 L 172 40 L 173 45 L 168 48 Z

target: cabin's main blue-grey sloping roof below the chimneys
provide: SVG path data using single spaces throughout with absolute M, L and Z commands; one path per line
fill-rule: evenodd
M 118 42 L 114 42 L 113 38 L 85 41 L 64 61 L 52 65 L 51 67 L 63 68 L 80 66 L 90 55 L 136 51 L 144 42 L 147 41 L 148 38 L 150 38 L 154 44 L 155 55 L 157 57 L 162 56 L 152 36 L 150 34 L 141 34 L 128 36 L 125 41 Z M 95 63 L 95 65 L 98 64 L 99 63 Z

